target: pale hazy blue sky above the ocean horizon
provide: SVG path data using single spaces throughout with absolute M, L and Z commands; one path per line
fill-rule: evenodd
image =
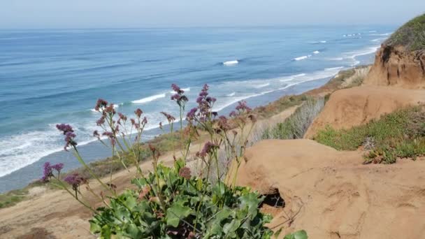
M 0 28 L 401 24 L 425 0 L 0 0 Z

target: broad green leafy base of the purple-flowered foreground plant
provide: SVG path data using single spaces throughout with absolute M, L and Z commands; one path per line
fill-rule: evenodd
M 271 238 L 273 232 L 264 226 L 271 216 L 259 212 L 259 194 L 194 178 L 183 165 L 182 160 L 173 168 L 158 165 L 155 173 L 134 179 L 138 190 L 124 191 L 110 198 L 110 208 L 98 209 L 90 221 L 92 233 L 103 238 Z

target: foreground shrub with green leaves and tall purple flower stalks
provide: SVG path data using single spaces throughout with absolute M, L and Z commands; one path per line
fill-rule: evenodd
M 44 166 L 44 182 L 61 187 L 91 210 L 90 231 L 101 238 L 271 238 L 273 231 L 265 224 L 271 222 L 270 215 L 259 211 L 263 196 L 248 187 L 236 186 L 236 176 L 241 159 L 247 147 L 247 138 L 256 119 L 245 101 L 238 102 L 235 111 L 229 117 L 220 116 L 212 110 L 215 98 L 208 95 L 205 85 L 196 100 L 198 106 L 189 110 L 186 116 L 187 126 L 183 126 L 185 103 L 188 99 L 184 91 L 172 85 L 175 94 L 171 100 L 180 108 L 180 131 L 173 132 L 175 117 L 162 113 L 170 125 L 171 135 L 180 138 L 179 147 L 171 140 L 173 152 L 180 150 L 181 157 L 175 157 L 174 166 L 168 168 L 159 163 L 159 149 L 148 145 L 152 156 L 153 171 L 145 173 L 140 162 L 147 152 L 141 145 L 141 136 L 147 119 L 143 111 L 135 110 L 135 117 L 116 113 L 113 103 L 99 99 L 95 109 L 101 113 L 96 124 L 103 132 L 94 131 L 93 135 L 101 143 L 110 147 L 109 182 L 103 182 L 78 152 L 75 133 L 68 124 L 58 124 L 57 129 L 64 134 L 65 150 L 71 150 L 85 167 L 86 173 L 102 187 L 97 194 L 89 184 L 87 177 L 80 173 L 71 173 L 60 177 L 63 164 Z M 127 124 L 130 129 L 127 130 Z M 162 125 L 160 124 L 162 129 Z M 128 134 L 128 131 L 135 131 Z M 203 168 L 199 176 L 192 175 L 187 166 L 189 148 L 200 131 L 208 135 L 203 150 L 196 153 Z M 132 144 L 134 143 L 134 145 Z M 233 169 L 221 170 L 219 151 L 224 152 L 228 166 Z M 137 189 L 127 189 L 117 194 L 112 173 L 115 161 L 128 168 L 132 163 L 136 175 L 132 183 Z M 215 181 L 209 179 L 215 174 Z M 82 194 L 80 187 L 85 184 L 87 191 L 103 202 L 100 208 L 93 208 Z

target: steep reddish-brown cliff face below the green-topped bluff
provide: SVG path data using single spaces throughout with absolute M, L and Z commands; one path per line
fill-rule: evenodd
M 425 50 L 382 45 L 363 84 L 425 89 Z

